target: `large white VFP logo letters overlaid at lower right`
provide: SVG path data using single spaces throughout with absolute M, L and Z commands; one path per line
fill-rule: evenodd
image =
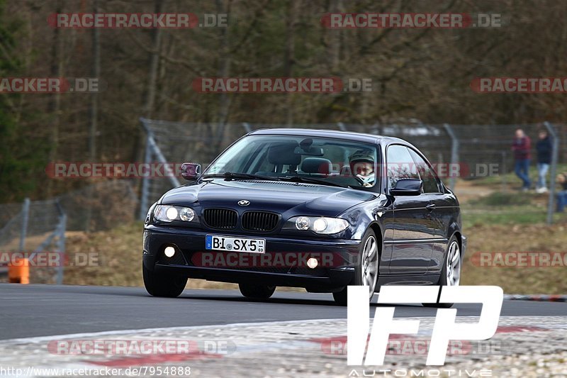
M 439 292 L 439 289 L 441 291 Z M 487 340 L 498 328 L 504 300 L 497 286 L 383 286 L 378 304 L 422 303 L 482 304 L 478 323 L 455 323 L 456 308 L 439 308 L 435 316 L 427 365 L 444 365 L 449 340 Z M 395 307 L 376 308 L 374 324 L 369 334 L 368 288 L 349 286 L 347 308 L 347 365 L 383 365 L 391 334 L 413 334 L 420 328 L 419 320 L 394 320 Z M 366 358 L 364 350 L 368 340 Z M 364 360 L 364 364 L 362 363 Z

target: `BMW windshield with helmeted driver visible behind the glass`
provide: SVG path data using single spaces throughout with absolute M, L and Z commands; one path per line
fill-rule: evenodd
M 336 138 L 249 135 L 223 152 L 206 169 L 204 177 L 269 178 L 365 189 L 378 184 L 374 174 L 377 156 L 376 146 L 369 143 Z

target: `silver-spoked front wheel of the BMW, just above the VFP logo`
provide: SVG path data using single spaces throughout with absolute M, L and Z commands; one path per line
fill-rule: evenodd
M 359 252 L 359 261 L 354 271 L 352 285 L 368 287 L 369 301 L 374 296 L 376 283 L 378 282 L 378 268 L 380 267 L 380 246 L 376 239 L 376 234 L 369 229 L 364 233 L 362 238 L 361 250 Z M 341 306 L 347 306 L 347 289 L 344 287 L 341 291 L 332 294 L 335 302 Z

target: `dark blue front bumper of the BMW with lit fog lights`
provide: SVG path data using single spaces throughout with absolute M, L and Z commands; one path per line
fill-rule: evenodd
M 266 253 L 272 257 L 260 262 L 239 265 L 203 265 L 203 253 L 220 255 L 238 252 L 211 251 L 205 249 L 206 235 L 223 235 L 240 238 L 263 238 Z M 222 230 L 206 231 L 171 226 L 146 226 L 144 230 L 143 264 L 150 271 L 167 271 L 183 274 L 189 278 L 218 282 L 262 282 L 275 286 L 304 287 L 308 291 L 337 291 L 347 286 L 354 276 L 354 267 L 359 254 L 360 240 L 331 238 L 298 239 L 282 235 L 241 234 Z M 164 248 L 172 245 L 176 249 L 173 257 L 164 255 Z M 278 264 L 276 255 L 314 255 L 322 257 L 320 265 L 311 269 L 305 265 Z M 259 254 L 245 254 L 259 255 Z M 232 256 L 234 257 L 234 256 Z M 256 257 L 256 256 L 254 256 Z M 327 257 L 329 257 L 327 259 Z M 200 260 L 201 259 L 201 260 Z M 223 260 L 223 262 L 227 262 Z M 242 262 L 242 260 L 240 260 Z M 267 262 L 267 264 L 265 263 Z

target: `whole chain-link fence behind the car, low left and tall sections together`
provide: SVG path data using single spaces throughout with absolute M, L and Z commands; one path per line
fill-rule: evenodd
M 145 162 L 199 162 L 206 167 L 224 148 L 240 136 L 261 128 L 289 127 L 261 123 L 183 123 L 141 118 L 147 133 Z M 503 191 L 520 186 L 510 175 L 514 170 L 511 142 L 515 130 L 522 128 L 532 138 L 542 128 L 554 136 L 554 162 L 549 181 L 548 222 L 554 206 L 554 177 L 558 164 L 566 162 L 561 146 L 567 138 L 565 125 L 549 123 L 527 125 L 426 125 L 419 122 L 373 125 L 327 123 L 297 124 L 294 128 L 314 128 L 395 136 L 420 148 L 434 164 L 456 164 L 469 167 L 461 179 L 485 177 L 486 167 L 494 165 Z M 532 150 L 532 162 L 535 151 Z M 172 165 L 173 166 L 173 165 Z M 481 167 L 481 172 L 479 172 Z M 151 204 L 165 191 L 183 184 L 179 172 L 163 177 L 145 176 L 140 179 L 107 179 L 43 201 L 24 201 L 23 204 L 0 205 L 0 256 L 10 252 L 65 252 L 65 233 L 114 228 L 135 218 L 143 219 Z M 461 172 L 462 173 L 462 172 Z M 454 187 L 454 177 L 444 181 Z M 137 193 L 140 189 L 140 193 Z M 137 216 L 135 209 L 138 210 Z M 6 263 L 0 260 L 0 282 L 6 280 Z M 61 283 L 63 265 L 42 267 L 30 272 L 35 283 Z

